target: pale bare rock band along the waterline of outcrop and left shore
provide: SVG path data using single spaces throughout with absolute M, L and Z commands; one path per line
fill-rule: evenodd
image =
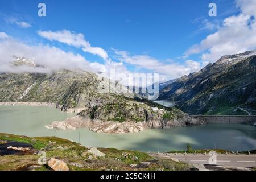
M 26 105 L 26 106 L 48 106 L 57 107 L 54 103 L 47 102 L 0 102 L 2 105 Z M 85 108 L 84 108 L 85 109 Z M 65 110 L 67 112 L 79 113 L 84 109 Z M 88 128 L 95 133 L 109 133 L 109 134 L 125 134 L 125 133 L 138 133 L 146 129 L 157 128 L 172 128 L 172 127 L 185 127 L 204 125 L 204 121 L 185 115 L 180 119 L 160 119 L 141 122 L 114 122 L 114 121 L 101 121 L 97 119 L 88 119 L 79 115 L 67 118 L 65 121 L 54 121 L 50 125 L 46 125 L 47 129 L 58 130 L 76 130 L 77 128 Z

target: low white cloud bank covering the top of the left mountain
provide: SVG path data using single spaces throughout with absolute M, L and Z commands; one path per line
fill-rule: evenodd
M 5 38 L 5 39 L 1 39 Z M 129 74 L 123 63 L 106 60 L 104 64 L 90 62 L 79 54 L 65 52 L 60 48 L 49 45 L 38 44 L 28 45 L 13 39 L 4 32 L 0 32 L 0 72 L 39 72 L 47 73 L 60 69 L 81 69 L 84 71 L 102 73 L 104 77 L 109 77 L 110 69 L 115 72 Z M 36 65 L 43 65 L 45 68 L 13 67 L 11 61 L 13 56 L 25 57 L 33 61 Z

